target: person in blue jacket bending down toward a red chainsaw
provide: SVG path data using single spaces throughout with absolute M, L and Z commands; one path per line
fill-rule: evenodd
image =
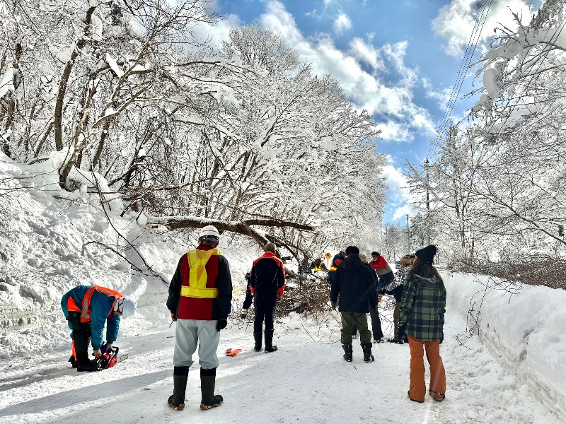
M 77 371 L 96 371 L 102 355 L 103 331 L 106 322 L 106 351 L 110 351 L 120 329 L 120 317 L 136 312 L 136 301 L 101 285 L 79 285 L 69 290 L 61 300 L 69 328 L 73 330 L 73 355 L 69 362 Z M 95 360 L 88 358 L 88 339 L 92 338 Z

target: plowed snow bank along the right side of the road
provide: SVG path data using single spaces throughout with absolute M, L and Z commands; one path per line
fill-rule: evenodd
M 511 294 L 497 278 L 471 274 L 444 280 L 448 307 L 468 318 L 470 332 L 566 416 L 566 291 L 526 285 Z

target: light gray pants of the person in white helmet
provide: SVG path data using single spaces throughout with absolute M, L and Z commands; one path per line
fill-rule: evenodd
M 177 319 L 175 327 L 175 351 L 173 365 L 190 367 L 192 354 L 199 346 L 199 364 L 204 370 L 218 367 L 216 348 L 220 333 L 216 330 L 216 320 Z

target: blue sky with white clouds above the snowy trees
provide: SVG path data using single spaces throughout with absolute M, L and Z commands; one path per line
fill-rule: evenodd
M 405 222 L 412 198 L 406 163 L 429 155 L 472 37 L 475 59 L 487 49 L 498 23 L 515 28 L 512 13 L 528 24 L 541 0 L 216 0 L 224 16 L 211 29 L 218 41 L 234 25 L 258 23 L 284 38 L 319 73 L 340 81 L 350 101 L 374 114 L 382 129 L 378 151 L 388 155 L 384 222 Z M 478 16 L 487 18 L 474 33 Z M 473 105 L 473 72 L 463 81 L 451 117 Z M 480 81 L 475 83 L 476 88 Z

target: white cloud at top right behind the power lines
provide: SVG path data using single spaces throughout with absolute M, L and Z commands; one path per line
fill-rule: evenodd
M 473 41 L 478 39 L 479 30 L 481 44 L 494 35 L 494 28 L 499 27 L 499 24 L 516 28 L 512 11 L 518 13 L 524 24 L 531 20 L 533 11 L 525 0 L 493 1 L 490 2 L 483 28 L 480 23 L 474 30 L 476 20 L 485 16 L 485 9 L 482 8 L 485 3 L 477 0 L 452 0 L 440 9 L 437 18 L 432 21 L 432 28 L 446 40 L 446 53 L 461 56 L 470 38 Z

